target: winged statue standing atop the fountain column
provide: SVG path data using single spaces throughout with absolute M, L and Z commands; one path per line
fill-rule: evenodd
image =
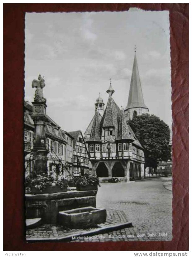
M 43 97 L 44 86 L 45 86 L 45 80 L 41 77 L 41 75 L 38 76 L 38 80 L 33 80 L 32 88 L 36 87 L 34 102 L 46 103 L 46 98 Z

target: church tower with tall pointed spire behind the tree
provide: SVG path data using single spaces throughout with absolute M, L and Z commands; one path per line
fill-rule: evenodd
M 131 83 L 129 89 L 129 97 L 126 108 L 124 109 L 124 116 L 126 120 L 132 120 L 137 115 L 148 113 L 149 109 L 146 107 L 143 99 L 141 88 L 141 81 L 139 77 L 139 70 L 137 66 L 136 48 L 133 61 L 133 70 L 131 75 Z

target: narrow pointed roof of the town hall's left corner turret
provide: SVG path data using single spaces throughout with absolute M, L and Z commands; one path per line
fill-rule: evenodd
M 96 141 L 96 142 L 101 142 L 100 139 L 100 121 L 101 121 L 101 115 L 99 111 L 95 112 L 95 115 L 93 117 L 93 125 L 90 133 L 90 137 L 87 141 Z

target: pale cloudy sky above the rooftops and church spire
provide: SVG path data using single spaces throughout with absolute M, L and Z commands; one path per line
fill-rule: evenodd
M 33 79 L 45 78 L 47 114 L 66 131 L 85 129 L 109 78 L 126 107 L 137 46 L 143 97 L 151 114 L 171 125 L 168 11 L 26 13 L 25 100 Z

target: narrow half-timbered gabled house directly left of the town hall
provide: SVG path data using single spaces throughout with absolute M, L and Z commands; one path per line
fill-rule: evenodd
M 73 176 L 89 173 L 89 156 L 81 130 L 71 131 L 73 138 Z

